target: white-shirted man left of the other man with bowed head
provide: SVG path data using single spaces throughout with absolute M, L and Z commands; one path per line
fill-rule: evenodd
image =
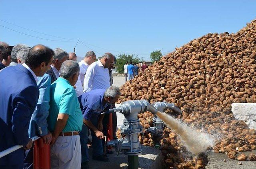
M 85 54 L 84 59 L 78 63 L 80 67 L 80 72 L 79 72 L 78 80 L 76 81 L 76 85 L 75 85 L 77 97 L 81 96 L 83 93 L 84 76 L 85 76 L 86 70 L 92 63 L 94 63 L 95 60 L 96 60 L 95 53 L 93 51 L 88 51 Z

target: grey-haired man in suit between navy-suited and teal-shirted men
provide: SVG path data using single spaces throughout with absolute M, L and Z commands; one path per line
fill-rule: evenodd
M 51 83 L 54 83 L 60 77 L 59 71 L 62 63 L 68 59 L 68 53 L 63 49 L 54 49 L 54 57 L 51 68 L 46 72 L 51 76 Z

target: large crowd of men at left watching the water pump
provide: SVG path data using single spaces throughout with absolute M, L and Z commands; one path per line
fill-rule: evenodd
M 88 168 L 89 134 L 92 158 L 109 161 L 102 139 L 108 110 L 121 95 L 112 86 L 115 57 L 105 53 L 96 61 L 88 51 L 82 61 L 76 59 L 61 48 L 0 42 L 0 152 L 23 145 L 0 158 L 0 169 L 32 169 L 34 136 L 50 145 L 52 169 Z

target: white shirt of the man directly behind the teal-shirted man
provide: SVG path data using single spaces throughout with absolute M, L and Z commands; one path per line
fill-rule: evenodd
M 80 61 L 78 64 L 80 67 L 80 71 L 79 71 L 78 80 L 76 81 L 76 84 L 75 84 L 77 97 L 81 96 L 83 93 L 84 76 L 85 76 L 87 68 L 89 67 L 89 65 L 83 60 Z

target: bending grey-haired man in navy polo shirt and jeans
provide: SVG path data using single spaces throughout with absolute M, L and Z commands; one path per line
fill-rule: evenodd
M 101 139 L 104 138 L 104 134 L 102 133 L 102 119 L 104 114 L 101 113 L 108 112 L 111 104 L 114 104 L 120 95 L 121 92 L 118 87 L 110 86 L 107 90 L 95 89 L 83 93 L 78 97 L 80 108 L 84 116 L 84 124 L 93 131 L 92 159 L 109 161 L 109 159 L 103 155 Z M 83 136 L 81 136 L 81 138 L 84 138 L 83 141 L 81 140 L 81 147 L 86 150 L 86 161 L 89 161 L 86 133 L 88 130 L 84 131 L 85 133 L 82 133 Z

